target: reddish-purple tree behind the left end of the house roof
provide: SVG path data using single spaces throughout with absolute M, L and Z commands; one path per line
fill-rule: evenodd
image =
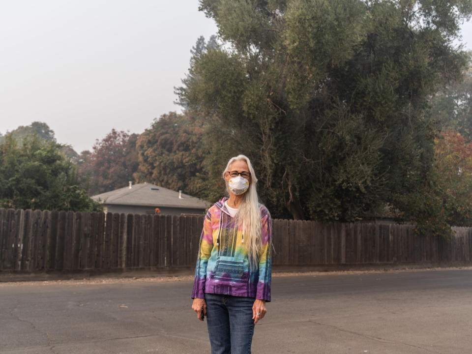
M 102 140 L 96 141 L 92 151 L 78 156 L 79 173 L 88 180 L 89 194 L 109 192 L 134 181 L 138 170 L 136 141 L 138 134 L 112 129 Z

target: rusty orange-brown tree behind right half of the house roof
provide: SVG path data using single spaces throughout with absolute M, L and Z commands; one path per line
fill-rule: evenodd
M 190 114 L 171 112 L 155 119 L 137 142 L 139 180 L 207 198 L 203 129 L 202 120 Z

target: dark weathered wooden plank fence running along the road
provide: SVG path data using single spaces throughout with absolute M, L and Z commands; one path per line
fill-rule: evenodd
M 193 267 L 203 216 L 0 209 L 0 272 Z M 472 228 L 451 241 L 409 225 L 273 220 L 274 266 L 470 263 Z

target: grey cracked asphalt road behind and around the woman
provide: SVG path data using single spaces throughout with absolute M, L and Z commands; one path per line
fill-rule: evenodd
M 0 353 L 202 354 L 191 280 L 0 287 Z M 472 353 L 472 270 L 274 276 L 252 352 Z

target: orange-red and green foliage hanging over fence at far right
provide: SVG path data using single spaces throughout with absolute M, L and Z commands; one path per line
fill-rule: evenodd
M 393 206 L 418 234 L 450 236 L 450 225 L 472 226 L 472 143 L 452 131 L 440 134 L 428 178 L 410 194 L 396 195 Z

